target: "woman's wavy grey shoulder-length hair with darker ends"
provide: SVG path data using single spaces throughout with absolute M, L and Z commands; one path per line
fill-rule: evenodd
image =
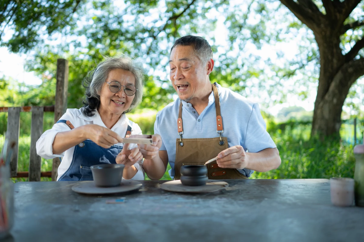
M 100 62 L 95 70 L 89 71 L 86 78 L 82 81 L 82 85 L 86 88 L 86 98 L 83 101 L 83 107 L 85 107 L 84 112 L 87 116 L 94 116 L 95 110 L 100 106 L 102 87 L 110 71 L 115 69 L 123 69 L 134 74 L 135 87 L 138 89 L 130 107 L 125 112 L 129 112 L 142 102 L 144 81 L 142 63 L 124 54 L 115 57 L 104 56 L 104 61 Z

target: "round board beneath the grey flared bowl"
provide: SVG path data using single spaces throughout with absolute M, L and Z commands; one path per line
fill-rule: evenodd
M 129 192 L 139 188 L 142 188 L 142 184 L 139 181 L 133 181 L 133 180 L 122 180 L 120 186 L 113 186 L 113 187 L 95 186 L 94 181 L 84 181 L 72 186 L 72 190 L 74 192 L 84 193 L 84 194 L 120 193 L 120 192 Z

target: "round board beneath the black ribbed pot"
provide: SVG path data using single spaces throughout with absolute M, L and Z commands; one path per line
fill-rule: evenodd
M 163 190 L 170 192 L 217 192 L 218 190 L 224 189 L 229 184 L 225 181 L 207 180 L 206 185 L 203 186 L 185 186 L 182 185 L 181 180 L 167 181 L 162 183 L 159 187 Z

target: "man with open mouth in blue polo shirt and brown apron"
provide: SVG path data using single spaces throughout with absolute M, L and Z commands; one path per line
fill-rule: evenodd
M 214 68 L 209 43 L 197 36 L 175 41 L 170 53 L 170 79 L 179 99 L 158 112 L 154 147 L 141 145 L 145 172 L 160 179 L 168 162 L 179 179 L 182 165 L 207 164 L 209 179 L 247 179 L 281 164 L 257 103 L 211 84 Z

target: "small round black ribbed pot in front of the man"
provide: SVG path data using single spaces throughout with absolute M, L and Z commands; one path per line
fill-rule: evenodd
M 183 165 L 181 167 L 181 183 L 185 186 L 206 185 L 208 180 L 205 165 Z

